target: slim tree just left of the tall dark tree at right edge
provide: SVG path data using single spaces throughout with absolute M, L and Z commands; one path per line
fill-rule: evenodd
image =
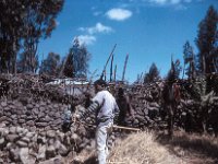
M 189 79 L 193 79 L 195 77 L 195 58 L 194 58 L 193 47 L 190 45 L 190 42 L 186 42 L 183 46 L 183 58 L 184 58 L 183 77 L 185 73 L 189 77 Z M 185 65 L 189 65 L 186 69 Z

